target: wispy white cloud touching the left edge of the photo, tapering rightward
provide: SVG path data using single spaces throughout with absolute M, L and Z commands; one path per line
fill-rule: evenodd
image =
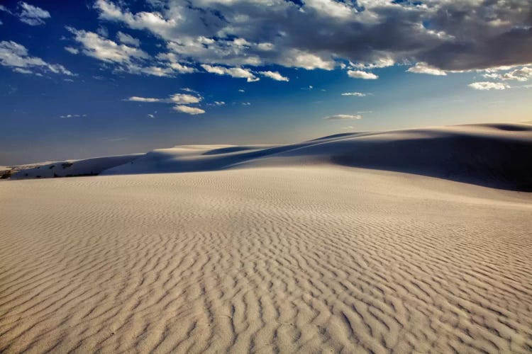
M 26 47 L 13 41 L 0 42 L 0 65 L 11 67 L 13 71 L 22 74 L 42 76 L 42 73 L 51 73 L 75 76 L 60 64 L 50 64 L 39 57 L 29 56 Z

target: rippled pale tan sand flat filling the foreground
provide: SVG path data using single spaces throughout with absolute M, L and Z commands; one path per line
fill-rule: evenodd
M 301 166 L 0 196 L 0 352 L 532 350 L 531 193 Z

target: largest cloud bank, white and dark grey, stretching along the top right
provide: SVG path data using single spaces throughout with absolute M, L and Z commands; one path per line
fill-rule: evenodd
M 155 35 L 180 62 L 198 65 L 331 70 L 351 62 L 369 70 L 416 62 L 424 64 L 411 72 L 434 74 L 532 63 L 526 0 L 158 0 L 136 13 L 123 4 L 96 0 L 94 8 L 102 21 Z

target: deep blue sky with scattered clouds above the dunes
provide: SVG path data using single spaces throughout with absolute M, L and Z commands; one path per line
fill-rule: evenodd
M 0 165 L 532 120 L 530 0 L 0 1 Z

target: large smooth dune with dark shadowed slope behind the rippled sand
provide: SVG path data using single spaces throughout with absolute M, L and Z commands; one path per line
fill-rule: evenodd
M 158 149 L 102 174 L 339 164 L 532 190 L 532 125 L 485 124 L 332 135 L 277 147 Z

